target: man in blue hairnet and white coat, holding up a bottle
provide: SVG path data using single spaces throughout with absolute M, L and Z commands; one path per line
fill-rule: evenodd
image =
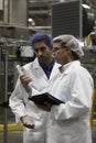
M 9 102 L 17 123 L 21 121 L 24 125 L 23 143 L 45 143 L 47 112 L 38 108 L 28 98 L 30 95 L 49 90 L 60 74 L 58 64 L 52 56 L 53 41 L 49 35 L 35 34 L 31 45 L 36 58 L 23 66 L 25 73 L 19 76 Z

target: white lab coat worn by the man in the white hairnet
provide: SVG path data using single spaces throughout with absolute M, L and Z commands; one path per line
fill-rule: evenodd
M 50 94 L 65 103 L 51 109 L 47 143 L 92 143 L 93 78 L 78 61 L 66 64 L 62 69 Z

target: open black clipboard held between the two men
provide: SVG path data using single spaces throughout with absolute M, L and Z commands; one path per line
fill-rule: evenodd
M 60 99 L 50 95 L 49 92 L 29 97 L 29 100 L 33 101 L 34 103 L 41 105 L 41 106 L 44 106 L 44 102 L 49 102 L 51 105 L 64 103 Z

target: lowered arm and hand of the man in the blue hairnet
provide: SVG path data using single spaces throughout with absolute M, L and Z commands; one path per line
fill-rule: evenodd
M 17 86 L 12 92 L 12 95 L 9 98 L 9 106 L 12 110 L 12 112 L 15 114 L 15 122 L 17 124 L 22 124 L 29 129 L 34 129 L 34 124 L 30 123 L 28 120 L 24 100 L 28 97 L 28 94 L 25 92 L 24 88 L 20 84 L 20 80 L 18 79 Z M 28 98 L 26 98 L 28 99 Z

